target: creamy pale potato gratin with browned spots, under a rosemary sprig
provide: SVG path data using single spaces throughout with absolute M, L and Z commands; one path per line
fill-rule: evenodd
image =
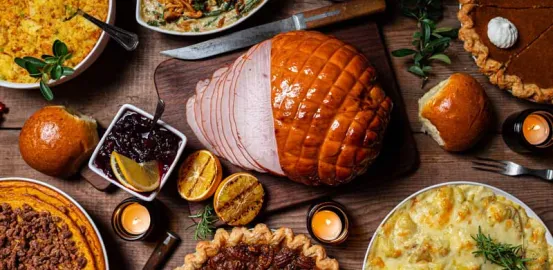
M 476 257 L 478 228 L 495 241 L 521 245 L 528 269 L 553 269 L 541 222 L 518 204 L 474 185 L 449 185 L 407 201 L 378 229 L 366 269 L 503 267 Z

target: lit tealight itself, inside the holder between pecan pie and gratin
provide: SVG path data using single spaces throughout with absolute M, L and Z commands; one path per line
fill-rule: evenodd
M 330 210 L 321 210 L 313 215 L 311 228 L 313 234 L 326 241 L 332 241 L 342 233 L 342 220 L 340 216 Z

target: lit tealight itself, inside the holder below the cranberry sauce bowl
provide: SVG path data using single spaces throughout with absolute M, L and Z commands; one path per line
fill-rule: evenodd
M 130 234 L 145 233 L 150 228 L 150 222 L 150 212 L 139 203 L 131 203 L 122 210 L 121 225 Z

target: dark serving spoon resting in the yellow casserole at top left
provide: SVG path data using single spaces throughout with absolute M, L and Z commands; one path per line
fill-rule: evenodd
M 69 21 L 77 15 L 82 16 L 83 18 L 98 26 L 100 29 L 104 30 L 104 32 L 106 32 L 113 40 L 119 43 L 119 45 L 123 46 L 125 50 L 134 51 L 136 47 L 138 47 L 138 35 L 136 35 L 135 33 L 102 22 L 79 8 L 75 11 L 75 13 L 66 18 L 65 21 Z

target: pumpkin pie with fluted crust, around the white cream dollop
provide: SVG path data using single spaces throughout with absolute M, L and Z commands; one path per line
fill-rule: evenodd
M 553 0 L 460 0 L 459 38 L 490 81 L 536 102 L 553 102 Z M 516 43 L 501 49 L 487 35 L 491 19 L 503 17 L 518 30 Z M 549 43 L 548 43 L 549 42 Z

